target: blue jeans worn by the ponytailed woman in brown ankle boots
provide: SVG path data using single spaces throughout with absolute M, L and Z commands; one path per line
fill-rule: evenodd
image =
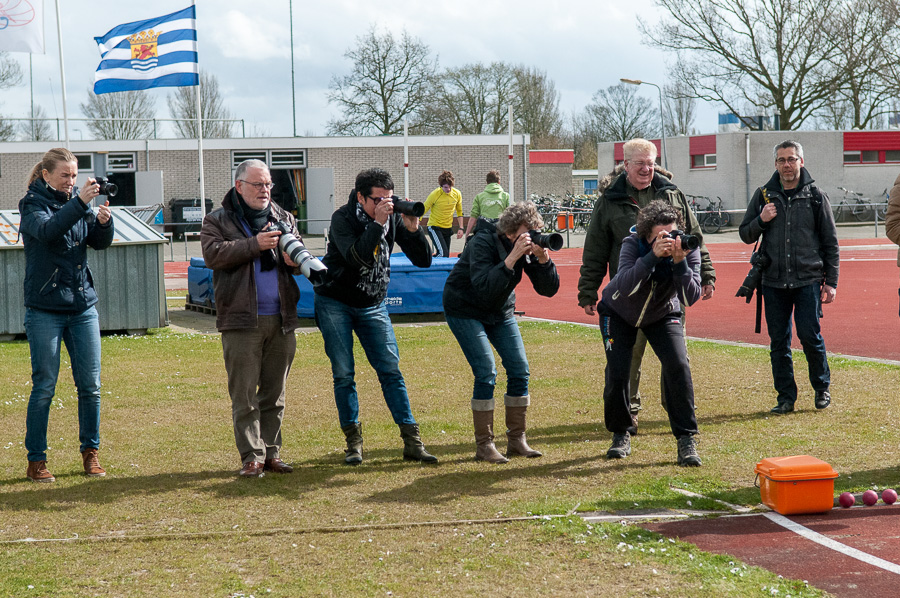
M 28 460 L 47 460 L 47 422 L 63 342 L 78 391 L 81 451 L 100 448 L 100 321 L 96 308 L 59 313 L 29 307 L 25 310 L 25 333 L 31 348 L 31 396 L 25 416 Z

